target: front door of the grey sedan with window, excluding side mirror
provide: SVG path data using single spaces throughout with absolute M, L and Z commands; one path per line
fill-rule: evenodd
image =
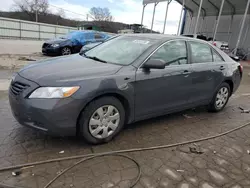
M 160 47 L 150 59 L 166 62 L 165 69 L 145 70 L 139 68 L 135 82 L 135 117 L 164 114 L 187 105 L 190 74 L 192 67 L 188 61 L 184 40 L 169 41 Z M 143 65 L 142 65 L 143 67 Z

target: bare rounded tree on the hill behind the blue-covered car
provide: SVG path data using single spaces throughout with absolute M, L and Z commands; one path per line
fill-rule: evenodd
M 113 21 L 114 18 L 108 8 L 92 7 L 90 9 L 90 17 L 94 21 Z

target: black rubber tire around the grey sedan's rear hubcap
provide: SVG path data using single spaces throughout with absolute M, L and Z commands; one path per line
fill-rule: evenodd
M 227 88 L 228 90 L 228 97 L 227 97 L 227 100 L 226 102 L 223 104 L 222 107 L 217 107 L 216 105 L 216 100 L 217 100 L 217 94 L 219 93 L 219 91 L 222 89 L 222 88 Z M 223 110 L 225 108 L 225 106 L 227 105 L 228 103 L 228 100 L 230 98 L 230 95 L 231 95 L 231 88 L 229 86 L 228 83 L 224 82 L 220 85 L 220 87 L 217 89 L 217 91 L 215 92 L 214 96 L 213 96 L 213 99 L 212 101 L 210 102 L 210 104 L 208 105 L 208 111 L 210 112 L 220 112 L 221 110 Z

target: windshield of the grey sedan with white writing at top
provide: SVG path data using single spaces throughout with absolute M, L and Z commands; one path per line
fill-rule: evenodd
M 85 53 L 107 63 L 129 65 L 136 60 L 155 40 L 132 36 L 120 36 L 108 40 Z

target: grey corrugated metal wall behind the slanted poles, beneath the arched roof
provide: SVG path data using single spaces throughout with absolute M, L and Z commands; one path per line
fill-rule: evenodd
M 234 49 L 238 39 L 242 18 L 243 15 L 234 15 L 232 21 L 232 16 L 221 16 L 218 32 L 216 35 L 216 40 L 226 41 L 229 43 L 230 49 Z M 232 21 L 232 26 L 230 30 L 231 21 Z M 193 17 L 191 19 L 189 14 L 187 14 L 184 34 L 193 34 L 195 22 L 196 22 L 196 17 Z M 206 35 L 207 37 L 213 37 L 215 24 L 216 24 L 216 16 L 208 16 L 205 17 L 205 19 L 200 18 L 198 33 Z M 247 16 L 239 46 L 239 48 L 244 48 L 245 50 L 250 49 L 249 26 L 250 26 L 250 15 Z

